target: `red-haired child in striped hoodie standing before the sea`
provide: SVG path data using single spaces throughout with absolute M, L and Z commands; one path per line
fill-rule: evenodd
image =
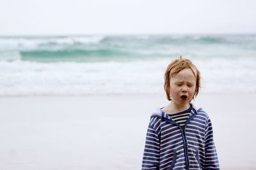
M 150 117 L 142 169 L 220 169 L 211 120 L 190 103 L 200 89 L 200 72 L 180 57 L 169 64 L 164 80 L 171 102 Z

